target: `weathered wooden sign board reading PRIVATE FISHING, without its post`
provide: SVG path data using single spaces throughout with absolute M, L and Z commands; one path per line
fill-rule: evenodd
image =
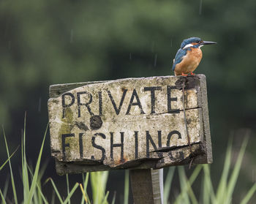
M 59 174 L 212 162 L 204 75 L 53 85 L 48 112 Z

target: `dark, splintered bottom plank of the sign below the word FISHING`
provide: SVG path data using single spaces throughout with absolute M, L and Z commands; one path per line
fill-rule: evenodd
M 66 173 L 84 173 L 91 171 L 119 170 L 119 169 L 160 169 L 175 165 L 205 164 L 206 154 L 201 143 L 165 151 L 161 158 L 141 158 L 130 162 L 110 167 L 100 162 L 60 162 L 56 159 L 56 170 L 59 175 Z

